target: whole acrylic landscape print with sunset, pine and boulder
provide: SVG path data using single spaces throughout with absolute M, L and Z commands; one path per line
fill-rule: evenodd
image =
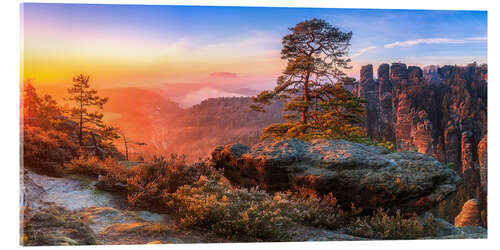
M 21 244 L 486 238 L 486 20 L 23 4 Z

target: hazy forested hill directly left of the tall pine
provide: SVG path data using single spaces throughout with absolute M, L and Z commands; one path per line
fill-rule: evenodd
M 196 160 L 222 144 L 257 143 L 263 128 L 283 121 L 283 105 L 275 103 L 260 113 L 249 111 L 251 103 L 250 97 L 210 98 L 184 110 L 168 128 L 166 151 Z

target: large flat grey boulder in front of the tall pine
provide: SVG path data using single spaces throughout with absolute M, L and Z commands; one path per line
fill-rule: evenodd
M 232 144 L 215 149 L 212 161 L 236 185 L 331 192 L 341 205 L 352 202 L 365 211 L 383 207 L 421 213 L 461 182 L 453 170 L 427 155 L 391 153 L 344 140 L 289 139 L 251 148 Z

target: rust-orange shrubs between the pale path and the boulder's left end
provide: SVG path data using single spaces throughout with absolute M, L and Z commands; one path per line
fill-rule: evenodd
M 66 173 L 97 178 L 97 187 L 126 192 L 131 207 L 163 209 L 162 194 L 195 183 L 200 176 L 214 178 L 219 174 L 206 162 L 186 164 L 183 156 L 170 159 L 155 157 L 151 162 L 127 168 L 113 158 L 100 160 L 95 156 L 79 157 L 64 165 Z M 220 177 L 219 177 L 220 178 Z

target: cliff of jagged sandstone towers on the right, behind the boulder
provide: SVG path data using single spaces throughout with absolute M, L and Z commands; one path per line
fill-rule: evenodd
M 484 209 L 486 143 L 480 141 L 487 134 L 487 65 L 422 70 L 393 63 L 381 64 L 377 72 L 378 95 L 360 95 L 371 103 L 365 123 L 368 136 L 391 141 L 398 151 L 417 151 L 451 164 L 464 178 L 461 199 L 478 198 Z M 358 93 L 370 92 L 369 86 L 360 84 Z

